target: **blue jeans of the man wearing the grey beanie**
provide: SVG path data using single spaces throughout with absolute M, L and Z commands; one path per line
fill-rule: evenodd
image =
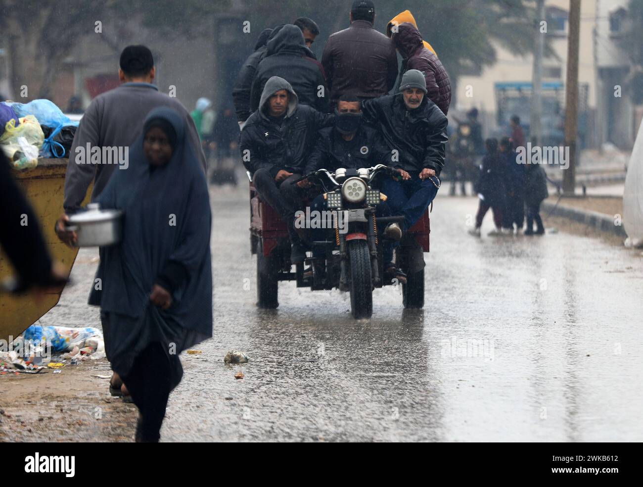
M 422 181 L 417 174 L 409 174 L 411 174 L 411 179 L 406 181 L 386 178 L 381 184 L 381 192 L 388 196 L 385 202 L 385 214 L 404 217 L 404 221 L 400 223 L 403 233 L 421 219 L 426 208 L 438 194 L 437 186 L 440 185 L 440 179 L 437 176 L 431 176 L 431 178 Z M 399 242 L 385 243 L 383 247 L 385 262 L 393 261 L 393 249 L 398 245 Z

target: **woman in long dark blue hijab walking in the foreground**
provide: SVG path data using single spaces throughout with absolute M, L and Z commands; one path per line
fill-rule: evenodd
M 178 354 L 212 336 L 210 201 L 181 116 L 154 109 L 98 198 L 123 210 L 123 238 L 104 248 L 97 277 L 105 352 L 140 411 L 136 441 L 158 441 Z M 95 288 L 98 286 L 95 286 Z

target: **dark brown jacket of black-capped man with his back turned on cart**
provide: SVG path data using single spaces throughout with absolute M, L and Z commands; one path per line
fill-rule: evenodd
M 331 90 L 331 102 L 345 94 L 362 99 L 388 94 L 397 78 L 397 55 L 393 43 L 368 21 L 329 37 L 321 58 Z

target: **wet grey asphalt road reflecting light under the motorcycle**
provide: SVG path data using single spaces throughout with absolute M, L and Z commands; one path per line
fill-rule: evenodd
M 287 282 L 261 311 L 247 188 L 213 188 L 212 205 L 213 338 L 182 355 L 162 441 L 643 441 L 640 251 L 476 239 L 476 200 L 439 196 L 424 309 L 377 289 L 355 321 L 347 294 Z M 42 324 L 98 325 L 94 258 L 82 250 Z M 250 362 L 224 364 L 229 349 Z

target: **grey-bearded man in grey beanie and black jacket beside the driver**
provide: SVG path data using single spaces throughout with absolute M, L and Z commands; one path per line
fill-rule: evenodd
M 409 69 L 400 82 L 400 92 L 363 100 L 364 120 L 379 129 L 390 161 L 401 181 L 385 179 L 381 190 L 388 199 L 391 214 L 404 216 L 400 224 L 386 226 L 385 235 L 399 241 L 422 217 L 437 195 L 440 171 L 444 167 L 446 127 L 444 113 L 426 96 L 426 81 L 421 71 Z M 393 247 L 385 247 L 386 275 L 404 279 L 392 263 Z

